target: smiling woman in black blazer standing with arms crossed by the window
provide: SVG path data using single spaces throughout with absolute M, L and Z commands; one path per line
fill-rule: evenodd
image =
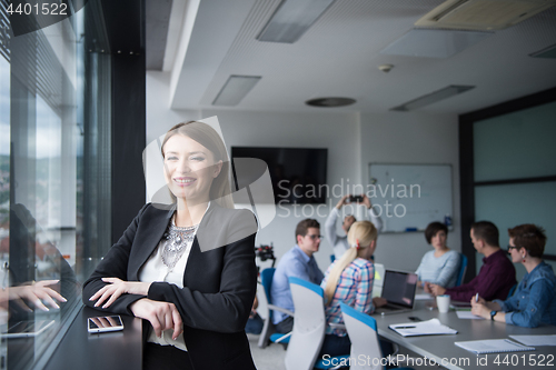
M 161 151 L 176 203 L 139 211 L 85 283 L 83 302 L 151 323 L 146 369 L 255 369 L 244 328 L 257 224 L 232 209 L 225 146 L 208 124 L 187 122 Z

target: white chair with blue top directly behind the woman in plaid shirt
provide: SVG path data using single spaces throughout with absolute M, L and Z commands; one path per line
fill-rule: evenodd
M 289 278 L 291 297 L 296 308 L 294 331 L 286 352 L 287 370 L 331 369 L 349 354 L 331 357 L 326 363 L 317 361 L 325 341 L 326 316 L 324 290 L 299 278 Z

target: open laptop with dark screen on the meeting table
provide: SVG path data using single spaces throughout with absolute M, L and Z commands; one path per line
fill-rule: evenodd
M 413 272 L 386 270 L 380 297 L 388 303 L 375 310 L 375 313 L 391 314 L 411 311 L 415 304 L 418 277 Z

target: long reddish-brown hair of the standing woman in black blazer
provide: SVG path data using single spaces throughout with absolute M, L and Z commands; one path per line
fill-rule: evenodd
M 160 150 L 162 151 L 162 158 L 165 157 L 165 144 L 175 134 L 182 134 L 192 140 L 197 141 L 212 153 L 215 161 L 222 161 L 222 169 L 218 177 L 212 181 L 210 187 L 210 200 L 217 202 L 224 208 L 234 208 L 234 200 L 231 198 L 231 187 L 230 187 L 230 160 L 228 158 L 228 152 L 226 151 L 226 146 L 222 139 L 216 132 L 214 128 L 203 122 L 188 121 L 181 122 L 172 127 L 166 133 L 165 140 Z M 171 193 L 170 196 L 173 201 L 176 197 Z

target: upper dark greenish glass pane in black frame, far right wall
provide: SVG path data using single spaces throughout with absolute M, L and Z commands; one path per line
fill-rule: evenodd
M 474 123 L 475 181 L 556 174 L 556 102 Z

